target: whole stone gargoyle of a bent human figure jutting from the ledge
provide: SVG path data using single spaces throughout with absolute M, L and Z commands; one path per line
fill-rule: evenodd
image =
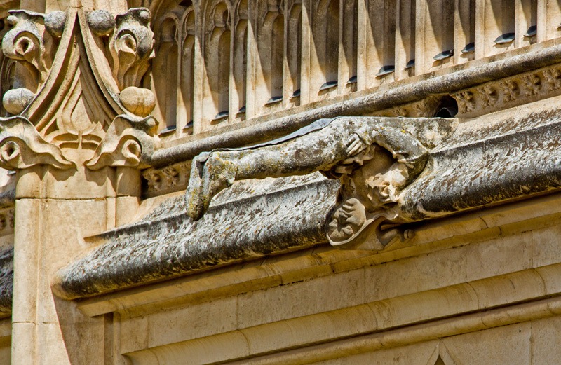
M 360 242 L 360 249 L 380 250 L 396 237 L 411 235 L 398 228 L 405 223 L 400 193 L 425 170 L 431 149 L 456 125 L 455 118 L 344 116 L 317 120 L 264 144 L 201 153 L 191 165 L 187 213 L 201 219 L 212 197 L 235 180 L 319 171 L 341 181 L 325 222 L 330 244 L 357 248 Z

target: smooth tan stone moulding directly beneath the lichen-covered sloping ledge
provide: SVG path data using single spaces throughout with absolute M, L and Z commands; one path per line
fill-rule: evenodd
M 408 261 L 417 256 L 438 257 L 438 252 L 478 245 L 483 241 L 501 238 L 510 240 L 529 230 L 550 230 L 561 222 L 560 202 L 561 195 L 553 194 L 427 222 L 418 228 L 412 240 L 396 242 L 383 252 L 339 250 L 323 245 L 311 247 L 95 296 L 81 301 L 79 308 L 90 317 L 121 310 L 130 315 L 143 316 L 163 308 L 198 305 L 226 296 L 295 284 L 360 268 L 381 268 L 384 266 L 381 264 L 391 265 L 392 262 Z M 545 261 L 534 257 L 532 262 L 547 265 L 557 261 L 555 252 L 547 256 Z

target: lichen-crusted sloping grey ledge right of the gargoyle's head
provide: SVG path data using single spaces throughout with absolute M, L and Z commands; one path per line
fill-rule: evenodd
M 476 127 L 458 128 L 433 152 L 431 172 L 405 189 L 401 208 L 412 221 L 561 188 L 557 109 Z

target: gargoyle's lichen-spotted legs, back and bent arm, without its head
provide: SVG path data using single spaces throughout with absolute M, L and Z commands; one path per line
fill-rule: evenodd
M 325 128 L 281 144 L 201 153 L 191 165 L 186 194 L 188 214 L 194 220 L 200 219 L 212 197 L 234 180 L 327 171 L 372 143 L 388 149 L 410 167 L 426 154 L 424 146 L 403 130 L 397 118 L 335 118 Z

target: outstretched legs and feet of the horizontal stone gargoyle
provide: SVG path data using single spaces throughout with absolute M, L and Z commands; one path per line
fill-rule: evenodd
M 349 145 L 363 126 L 360 118 L 334 120 L 321 130 L 278 145 L 236 151 L 212 151 L 197 156 L 191 164 L 187 187 L 187 211 L 200 219 L 212 197 L 234 180 L 304 175 L 329 170 L 349 157 Z M 370 145 L 370 138 L 363 147 Z

